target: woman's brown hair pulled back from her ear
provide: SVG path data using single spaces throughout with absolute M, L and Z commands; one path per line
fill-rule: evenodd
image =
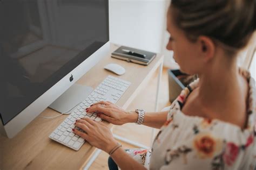
M 231 53 L 255 31 L 255 0 L 172 0 L 170 11 L 188 39 L 207 36 Z

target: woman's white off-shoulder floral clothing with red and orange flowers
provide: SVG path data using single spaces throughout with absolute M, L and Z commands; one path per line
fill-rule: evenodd
M 249 84 L 248 124 L 239 126 L 181 112 L 199 79 L 186 87 L 172 103 L 152 150 L 127 150 L 148 169 L 250 169 L 256 166 L 256 91 L 246 70 L 239 70 Z

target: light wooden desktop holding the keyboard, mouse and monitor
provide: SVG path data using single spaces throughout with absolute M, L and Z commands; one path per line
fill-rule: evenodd
M 117 46 L 111 46 L 112 51 L 117 48 Z M 151 75 L 159 66 L 162 66 L 163 59 L 163 55 L 158 54 L 149 66 L 141 66 L 113 59 L 110 54 L 107 54 L 77 83 L 96 88 L 107 75 L 130 81 L 131 86 L 117 102 L 120 107 L 126 109 Z M 118 76 L 103 69 L 108 63 L 117 63 L 123 66 L 126 73 Z M 57 114 L 56 111 L 46 108 L 39 116 L 55 116 Z M 82 169 L 96 148 L 85 143 L 79 151 L 74 151 L 51 140 L 48 138 L 49 134 L 64 121 L 67 115 L 54 119 L 44 119 L 39 116 L 16 137 L 8 139 L 0 136 L 0 169 Z M 112 126 L 112 124 L 105 123 Z

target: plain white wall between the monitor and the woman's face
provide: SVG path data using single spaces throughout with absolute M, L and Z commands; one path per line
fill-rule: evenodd
M 166 0 L 110 0 L 110 41 L 161 52 Z

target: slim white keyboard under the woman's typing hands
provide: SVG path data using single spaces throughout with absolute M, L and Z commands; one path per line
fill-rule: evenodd
M 60 144 L 68 146 L 73 150 L 78 151 L 79 148 L 85 143 L 83 138 L 80 138 L 72 129 L 76 128 L 74 123 L 76 119 L 82 117 L 89 117 L 97 122 L 102 121 L 101 118 L 97 117 L 95 112 L 87 113 L 86 108 L 90 107 L 91 104 L 99 101 L 110 101 L 116 103 L 119 98 L 125 93 L 125 90 L 130 86 L 130 82 L 118 79 L 113 76 L 107 76 L 106 79 L 99 84 L 99 86 L 92 91 L 92 93 L 86 98 L 85 101 L 80 103 L 77 108 L 67 117 L 49 136 L 52 140 L 57 141 Z

